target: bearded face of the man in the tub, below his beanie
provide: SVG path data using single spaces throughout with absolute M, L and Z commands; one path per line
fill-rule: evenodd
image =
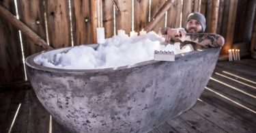
M 186 23 L 186 31 L 188 33 L 200 33 L 202 31 L 202 26 L 199 20 L 191 19 Z

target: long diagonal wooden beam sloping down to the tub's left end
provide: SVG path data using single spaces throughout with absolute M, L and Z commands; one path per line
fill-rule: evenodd
M 18 20 L 12 13 L 6 10 L 2 5 L 0 5 L 0 16 L 8 20 L 10 24 L 14 25 L 17 29 L 19 29 L 24 35 L 26 35 L 29 39 L 31 39 L 36 45 L 42 46 L 44 49 L 53 49 L 51 46 L 40 38 L 36 33 L 34 33 L 27 25 Z

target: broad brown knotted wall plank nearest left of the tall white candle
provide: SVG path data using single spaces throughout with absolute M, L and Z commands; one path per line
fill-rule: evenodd
M 91 7 L 89 0 L 71 2 L 74 45 L 92 44 Z

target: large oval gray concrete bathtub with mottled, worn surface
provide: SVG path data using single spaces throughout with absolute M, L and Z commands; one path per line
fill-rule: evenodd
M 26 68 L 38 99 L 72 132 L 147 132 L 191 108 L 203 92 L 220 48 L 100 70 L 61 70 L 34 62 L 69 48 L 31 55 Z

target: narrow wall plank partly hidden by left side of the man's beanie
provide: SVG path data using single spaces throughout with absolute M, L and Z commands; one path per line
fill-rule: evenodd
M 193 1 L 184 0 L 182 8 L 182 27 L 186 27 L 186 18 L 191 12 L 193 12 Z

